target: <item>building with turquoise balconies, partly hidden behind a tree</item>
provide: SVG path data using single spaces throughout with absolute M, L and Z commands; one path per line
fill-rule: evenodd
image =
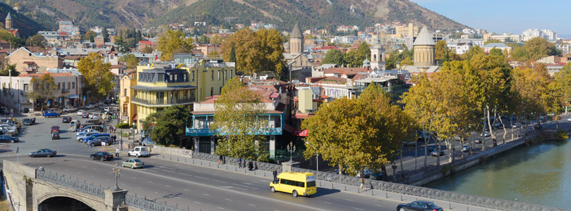
M 259 129 L 258 135 L 266 136 L 265 141 L 270 152 L 270 158 L 276 156 L 276 136 L 282 135 L 284 128 L 285 105 L 281 103 L 282 93 L 267 89 L 259 89 L 258 87 L 248 87 L 252 91 L 256 91 L 263 97 L 265 104 L 265 113 L 257 115 L 259 120 L 267 121 L 267 127 Z M 215 151 L 217 141 L 220 139 L 217 135 L 219 132 L 209 128 L 210 123 L 214 120 L 215 102 L 218 96 L 212 96 L 206 101 L 194 103 L 192 120 L 188 120 L 186 127 L 186 135 L 193 137 L 193 148 L 200 153 L 213 153 Z

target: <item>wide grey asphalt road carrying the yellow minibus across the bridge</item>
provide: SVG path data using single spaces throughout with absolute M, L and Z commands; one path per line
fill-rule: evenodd
M 64 115 L 66 116 L 66 115 Z M 68 114 L 74 119 L 76 114 Z M 22 119 L 23 117 L 18 117 Z M 80 119 L 82 120 L 82 119 Z M 20 148 L 18 162 L 31 167 L 44 166 L 48 172 L 85 180 L 104 187 L 115 186 L 112 167 L 121 165 L 126 157 L 102 162 L 90 160 L 99 148 L 87 148 L 67 132 L 68 124 L 61 117 L 37 117 L 37 124 L 24 126 L 20 143 L 0 143 L 0 156 L 16 162 L 16 146 Z M 82 121 L 85 122 L 85 121 Z M 61 127 L 61 139 L 52 140 L 49 128 Z M 110 146 L 110 148 L 114 148 Z M 58 152 L 55 158 L 28 158 L 27 153 L 39 148 Z M 145 168 L 121 168 L 119 187 L 130 195 L 156 200 L 159 203 L 190 210 L 394 210 L 398 200 L 385 200 L 363 194 L 318 188 L 311 198 L 294 198 L 287 193 L 272 193 L 270 179 L 243 173 L 171 162 L 158 158 L 140 158 Z

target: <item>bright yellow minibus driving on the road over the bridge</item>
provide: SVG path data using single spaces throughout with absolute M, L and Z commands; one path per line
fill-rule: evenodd
M 291 193 L 294 197 L 310 196 L 317 193 L 315 176 L 309 172 L 283 172 L 270 182 L 270 190 Z

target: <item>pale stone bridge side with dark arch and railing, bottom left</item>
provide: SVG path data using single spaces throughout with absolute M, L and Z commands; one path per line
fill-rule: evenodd
M 14 210 L 164 210 L 182 211 L 143 198 L 128 196 L 128 190 L 104 188 L 63 175 L 4 160 L 2 192 Z

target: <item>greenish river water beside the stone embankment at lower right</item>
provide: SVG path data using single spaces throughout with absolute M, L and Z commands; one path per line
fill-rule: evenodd
M 426 187 L 571 209 L 571 140 L 520 146 Z

